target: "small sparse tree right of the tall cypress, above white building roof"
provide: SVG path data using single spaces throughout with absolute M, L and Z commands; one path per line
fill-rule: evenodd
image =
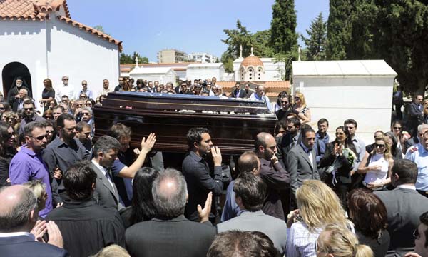
M 327 44 L 327 23 L 322 19 L 320 13 L 310 24 L 310 29 L 306 30 L 309 37 L 301 36 L 307 46 L 305 50 L 306 59 L 309 61 L 325 60 L 325 47 Z

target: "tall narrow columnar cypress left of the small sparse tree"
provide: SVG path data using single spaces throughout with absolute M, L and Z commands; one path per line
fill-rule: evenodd
M 294 0 L 275 0 L 270 22 L 270 45 L 275 54 L 287 54 L 297 46 L 296 26 Z

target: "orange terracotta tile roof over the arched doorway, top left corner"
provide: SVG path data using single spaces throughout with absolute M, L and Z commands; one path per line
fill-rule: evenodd
M 59 11 L 61 6 L 70 18 L 66 0 L 3 0 L 0 1 L 0 19 L 44 21 L 49 19 L 49 12 Z

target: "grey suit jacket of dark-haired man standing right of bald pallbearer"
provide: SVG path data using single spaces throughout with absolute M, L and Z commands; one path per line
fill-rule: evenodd
M 302 143 L 291 148 L 287 154 L 287 171 L 290 173 L 290 186 L 292 197 L 295 197 L 297 188 L 302 186 L 303 181 L 307 179 L 320 180 L 320 174 L 317 171 L 317 159 L 315 147 L 311 150 L 312 165 L 309 156 L 302 147 Z

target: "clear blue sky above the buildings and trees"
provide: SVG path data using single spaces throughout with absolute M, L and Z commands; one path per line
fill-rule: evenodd
M 249 31 L 270 28 L 274 0 L 69 0 L 71 18 L 123 41 L 123 51 L 138 51 L 156 61 L 161 49 L 187 53 L 203 51 L 220 57 L 226 46 L 223 29 L 235 29 L 240 19 Z M 295 0 L 296 31 L 306 35 L 310 22 L 322 12 L 328 17 L 328 0 Z M 300 43 L 301 44 L 301 43 Z

